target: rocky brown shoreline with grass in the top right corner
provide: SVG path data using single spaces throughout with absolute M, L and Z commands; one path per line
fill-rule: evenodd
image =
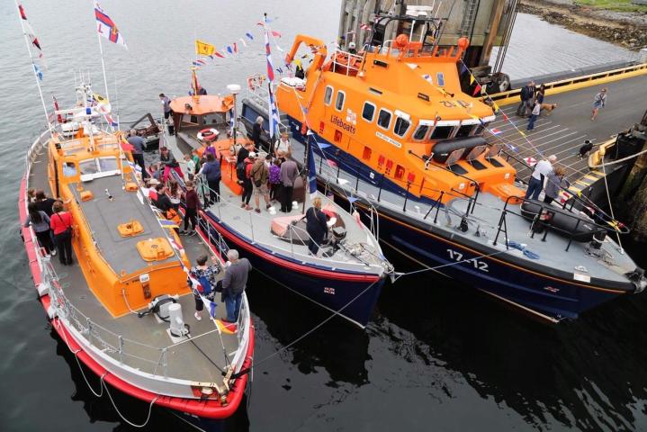
M 647 47 L 647 14 L 591 9 L 564 0 L 521 0 L 519 12 L 541 16 L 547 23 L 562 25 L 626 49 Z

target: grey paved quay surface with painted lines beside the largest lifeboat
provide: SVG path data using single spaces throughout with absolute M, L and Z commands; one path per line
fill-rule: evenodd
M 605 87 L 608 89 L 607 105 L 598 112 L 596 120 L 591 121 L 593 97 Z M 644 106 L 625 101 L 646 99 L 647 75 L 561 94 L 549 94 L 546 95 L 544 103 L 557 103 L 557 108 L 550 113 L 542 112 L 535 121 L 535 130 L 526 131 L 528 120 L 517 117 L 518 103 L 514 103 L 501 108 L 509 121 L 499 112 L 497 119 L 490 123 L 490 129 L 498 129 L 502 133 L 487 138 L 490 143 L 503 143 L 506 151 L 518 159 L 537 159 L 539 152 L 544 156 L 557 156 L 557 163 L 566 168 L 571 183 L 574 183 L 576 179 L 589 173 L 587 158 L 582 159 L 578 156 L 584 140 L 590 139 L 594 145 L 599 145 L 613 138 L 618 132 L 630 128 L 634 123 L 640 122 Z M 517 129 L 526 133 L 530 143 Z M 595 149 L 594 147 L 593 150 Z M 509 162 L 517 169 L 517 176 L 527 181 L 532 174 L 532 168 L 513 158 L 510 158 Z

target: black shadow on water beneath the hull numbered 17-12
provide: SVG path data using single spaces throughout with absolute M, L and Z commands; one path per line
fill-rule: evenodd
M 448 396 L 451 376 L 459 373 L 481 398 L 508 405 L 535 428 L 550 428 L 555 420 L 584 430 L 641 428 L 636 422 L 647 411 L 641 402 L 647 397 L 644 293 L 553 325 L 439 275 L 420 282 L 387 286 L 370 331 L 391 339 L 402 356 L 440 366 Z M 394 326 L 415 339 L 400 338 Z

